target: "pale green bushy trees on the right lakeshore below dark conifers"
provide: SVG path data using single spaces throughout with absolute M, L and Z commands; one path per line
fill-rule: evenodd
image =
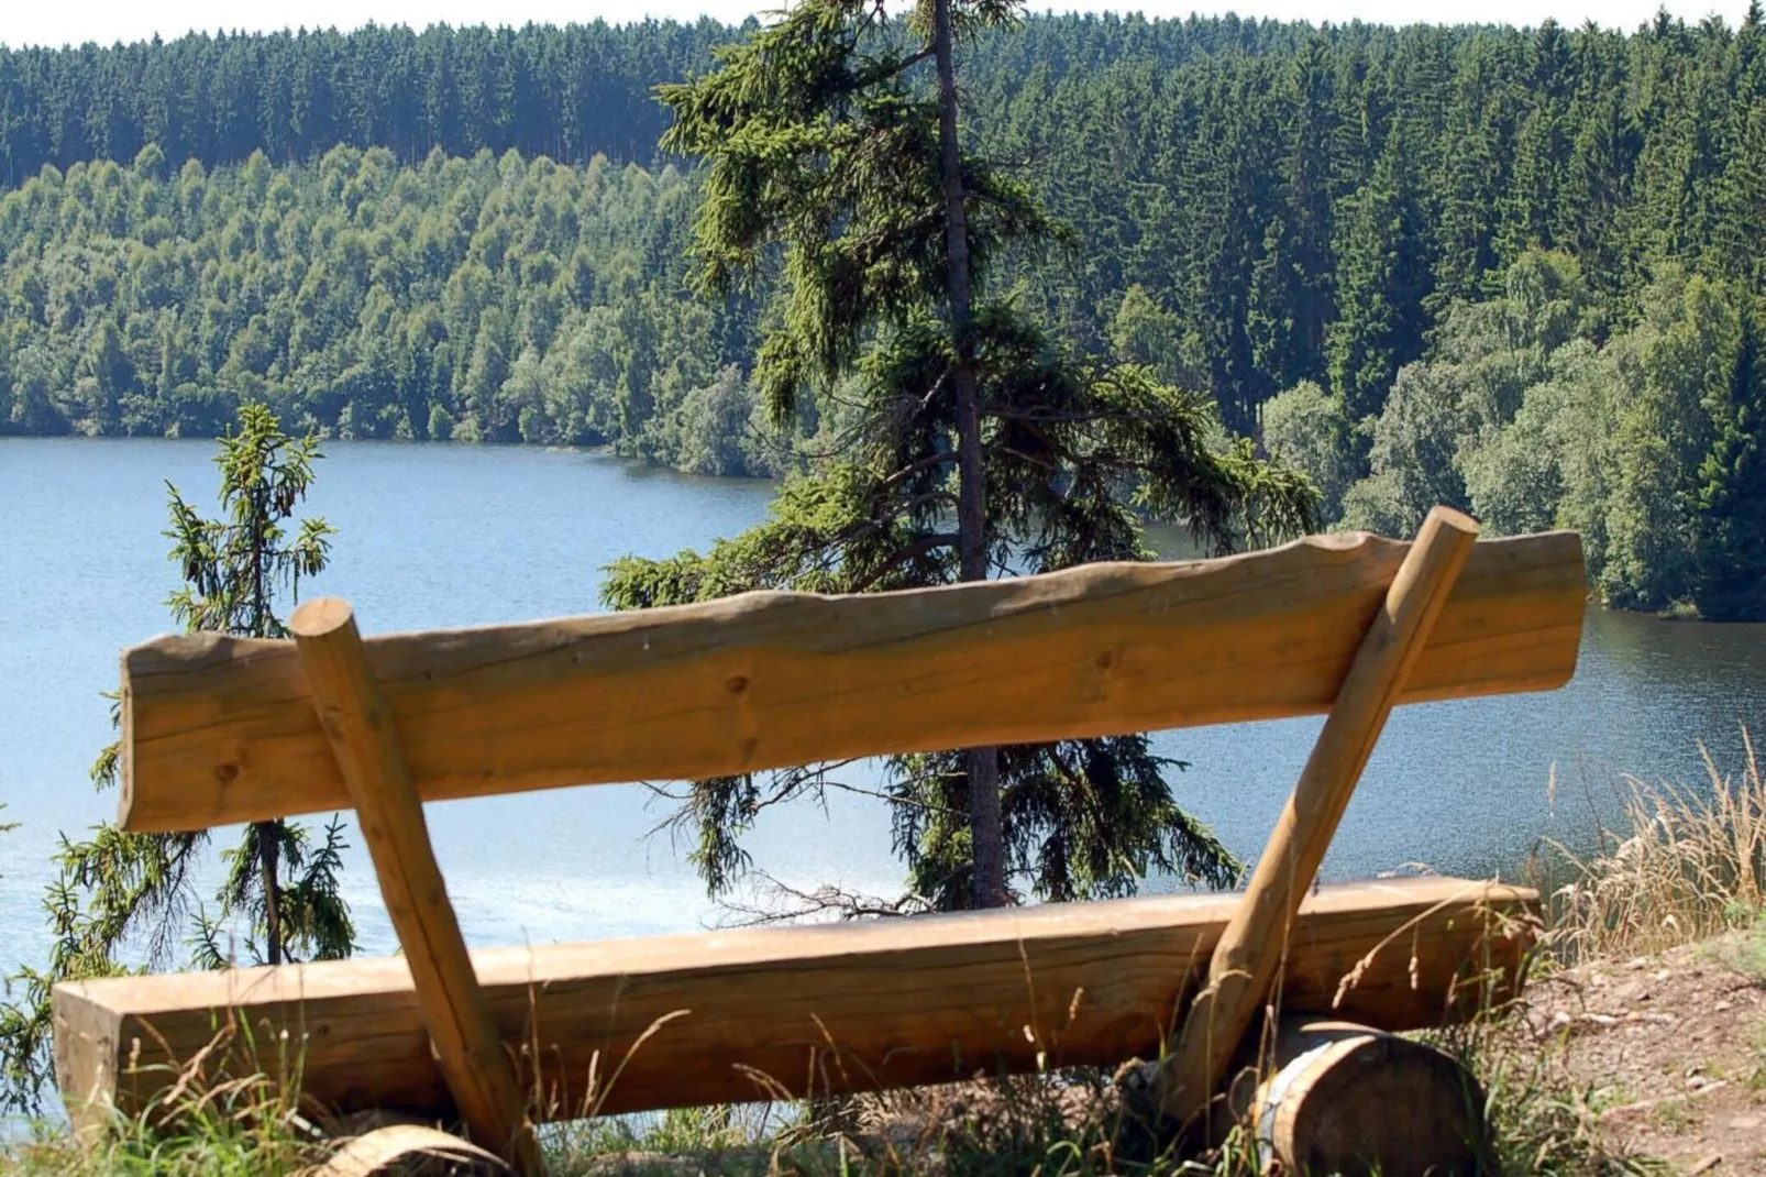
M 1337 520 L 1411 534 L 1436 502 L 1494 534 L 1582 534 L 1589 576 L 1616 606 L 1766 611 L 1759 300 L 1734 283 L 1657 267 L 1639 322 L 1607 334 L 1574 258 L 1529 251 L 1503 297 L 1441 313 L 1355 429 L 1300 385 L 1270 401 L 1264 440 L 1330 491 L 1370 429 L 1367 472 Z

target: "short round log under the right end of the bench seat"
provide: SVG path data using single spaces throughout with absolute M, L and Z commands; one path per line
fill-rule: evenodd
M 1249 1112 L 1284 1173 L 1489 1172 L 1478 1080 L 1452 1055 L 1349 1021 L 1284 1018 Z

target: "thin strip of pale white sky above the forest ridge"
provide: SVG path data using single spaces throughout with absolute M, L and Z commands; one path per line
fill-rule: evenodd
M 696 19 L 713 16 L 740 21 L 751 12 L 779 7 L 781 0 L 283 0 L 238 4 L 238 0 L 0 0 L 0 44 L 79 44 L 97 41 L 143 41 L 177 37 L 191 30 L 251 30 L 307 27 L 341 30 L 367 21 L 422 28 L 450 25 L 525 25 L 592 21 L 623 23 L 655 18 Z M 1665 7 L 1688 21 L 1709 14 L 1740 23 L 1748 0 L 1667 0 Z M 1031 7 L 1049 7 L 1031 0 Z M 1660 0 L 1058 0 L 1060 11 L 1141 11 L 1146 16 L 1203 16 L 1238 12 L 1275 19 L 1351 21 L 1385 25 L 1506 23 L 1635 28 L 1655 16 Z

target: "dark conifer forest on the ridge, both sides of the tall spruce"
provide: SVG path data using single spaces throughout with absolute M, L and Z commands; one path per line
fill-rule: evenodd
M 0 175 L 88 159 L 397 163 L 519 150 L 652 166 L 659 81 L 713 23 L 185 37 L 0 51 Z M 1033 18 L 970 46 L 968 127 L 1079 232 L 1035 290 L 1093 341 L 1134 286 L 1227 421 L 1310 378 L 1358 412 L 1455 299 L 1533 246 L 1572 253 L 1614 315 L 1653 258 L 1759 285 L 1761 25 L 1314 30 Z

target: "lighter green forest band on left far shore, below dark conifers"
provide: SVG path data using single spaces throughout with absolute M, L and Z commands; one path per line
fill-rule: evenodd
M 343 147 L 161 171 L 0 194 L 0 431 L 217 435 L 261 401 L 302 433 L 766 470 L 705 454 L 752 311 L 683 297 L 692 177 Z

